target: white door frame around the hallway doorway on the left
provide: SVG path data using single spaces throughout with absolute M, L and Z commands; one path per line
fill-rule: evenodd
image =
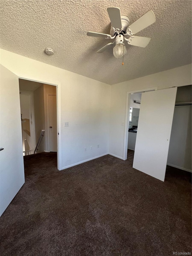
M 16 73 L 15 73 L 16 74 Z M 57 100 L 57 169 L 62 170 L 61 167 L 61 83 L 44 80 L 37 77 L 29 77 L 22 74 L 16 74 L 18 79 L 29 80 L 38 83 L 44 83 L 56 86 L 56 100 Z

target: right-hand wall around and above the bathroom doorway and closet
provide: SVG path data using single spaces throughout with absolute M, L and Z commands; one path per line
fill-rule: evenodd
M 109 152 L 123 158 L 126 92 L 156 87 L 165 89 L 191 84 L 191 64 L 111 86 Z

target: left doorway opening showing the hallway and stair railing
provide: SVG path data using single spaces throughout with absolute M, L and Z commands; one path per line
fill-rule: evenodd
M 19 94 L 23 155 L 56 152 L 58 159 L 57 86 L 19 78 Z

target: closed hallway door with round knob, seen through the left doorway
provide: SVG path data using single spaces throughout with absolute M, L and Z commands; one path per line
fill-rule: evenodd
M 48 95 L 49 104 L 49 141 L 50 151 L 57 152 L 57 99 L 56 95 Z

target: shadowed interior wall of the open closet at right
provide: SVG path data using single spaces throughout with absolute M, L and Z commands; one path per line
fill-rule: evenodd
M 191 85 L 177 89 L 176 102 L 191 102 Z M 191 105 L 175 106 L 167 164 L 191 171 Z

